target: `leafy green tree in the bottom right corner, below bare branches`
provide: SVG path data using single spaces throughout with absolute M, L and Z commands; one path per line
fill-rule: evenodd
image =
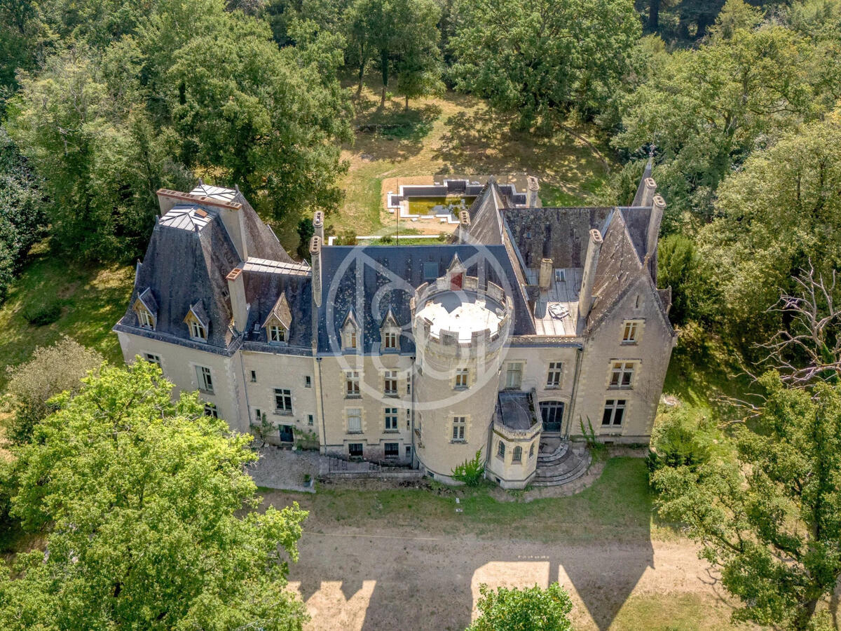
M 801 631 L 841 578 L 841 389 L 785 387 L 776 373 L 736 461 L 660 469 L 662 517 L 685 524 L 742 607 L 733 618 Z

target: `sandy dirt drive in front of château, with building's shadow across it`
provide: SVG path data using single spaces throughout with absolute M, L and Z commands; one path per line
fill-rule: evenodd
M 300 563 L 290 580 L 314 631 L 460 630 L 475 613 L 479 583 L 545 587 L 557 580 L 573 598 L 576 629 L 631 628 L 615 623 L 630 597 L 700 594 L 705 607 L 726 608 L 689 543 L 546 545 L 348 532 L 305 533 L 300 542 Z M 727 612 L 717 618 L 726 619 Z M 699 620 L 697 628 L 712 627 Z

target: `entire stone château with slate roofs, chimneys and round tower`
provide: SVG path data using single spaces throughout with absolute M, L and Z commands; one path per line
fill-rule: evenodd
M 563 481 L 539 463 L 582 430 L 648 443 L 676 339 L 655 188 L 543 208 L 489 178 L 447 245 L 332 246 L 316 213 L 311 263 L 238 189 L 161 189 L 114 331 L 235 430 L 443 481 L 478 451 L 506 488 Z

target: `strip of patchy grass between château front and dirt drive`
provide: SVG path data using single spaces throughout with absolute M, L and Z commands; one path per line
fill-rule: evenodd
M 641 459 L 609 460 L 600 479 L 574 496 L 498 501 L 493 491 L 489 486 L 358 490 L 327 485 L 315 495 L 273 491 L 264 498 L 274 506 L 298 501 L 309 511 L 305 528 L 316 532 L 338 526 L 399 528 L 551 542 L 648 538 L 651 531 L 648 472 Z M 457 497 L 462 513 L 455 512 Z

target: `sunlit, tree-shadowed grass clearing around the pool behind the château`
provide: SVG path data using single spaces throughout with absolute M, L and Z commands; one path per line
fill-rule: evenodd
M 511 131 L 510 120 L 489 112 L 480 99 L 446 93 L 412 101 L 407 113 L 398 99 L 380 108 L 379 92 L 372 82 L 354 101 L 356 141 L 342 151 L 350 165 L 345 203 L 327 219 L 336 233 L 394 231 L 394 217 L 383 209 L 385 178 L 528 173 L 545 186 L 544 203 L 556 205 L 587 203 L 606 179 L 604 164 L 572 135 L 541 138 Z M 599 146 L 590 130 L 575 131 Z

